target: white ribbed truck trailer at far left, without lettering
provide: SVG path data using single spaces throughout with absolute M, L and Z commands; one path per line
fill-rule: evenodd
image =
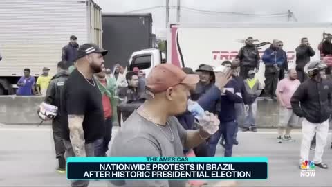
M 102 46 L 102 12 L 92 0 L 1 0 L 0 95 L 15 94 L 24 68 L 54 75 L 71 35 Z

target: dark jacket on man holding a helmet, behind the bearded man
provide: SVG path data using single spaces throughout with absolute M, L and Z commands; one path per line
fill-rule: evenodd
M 56 75 L 53 76 L 52 80 L 50 80 L 50 84 L 48 86 L 45 103 L 50 105 L 55 105 L 58 107 L 58 115 L 57 118 L 62 115 L 64 105 L 64 83 L 68 79 L 68 72 L 59 71 Z

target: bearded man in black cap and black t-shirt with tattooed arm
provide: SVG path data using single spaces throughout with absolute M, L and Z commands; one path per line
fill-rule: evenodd
M 104 137 L 102 94 L 95 73 L 102 71 L 106 50 L 95 44 L 78 49 L 76 69 L 64 85 L 64 105 L 68 125 L 64 127 L 65 157 L 93 157 L 94 142 Z M 88 186 L 89 181 L 71 181 L 72 186 Z

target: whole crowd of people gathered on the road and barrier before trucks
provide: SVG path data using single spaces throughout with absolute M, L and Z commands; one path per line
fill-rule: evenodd
M 72 36 L 64 47 L 57 74 L 47 87 L 43 82 L 47 82 L 49 69 L 44 68 L 42 79 L 37 80 L 38 93 L 46 93 L 45 103 L 58 107 L 52 127 L 59 172 L 66 171 L 67 157 L 107 157 L 111 139 L 111 157 L 214 157 L 219 143 L 225 148 L 224 156 L 232 157 L 233 145 L 239 144 L 239 127 L 243 132 L 257 132 L 257 97 L 263 90 L 280 104 L 277 143 L 294 141 L 291 130 L 299 118 L 304 118 L 301 161 L 308 160 L 311 141 L 316 136 L 315 164 L 327 168 L 322 154 L 332 112 L 332 84 L 326 78 L 326 63 L 310 61 L 315 52 L 308 39 L 303 38 L 296 49 L 296 69 L 288 69 L 282 42 L 273 40 L 262 57 L 266 64 L 265 89 L 255 78 L 259 53 L 252 37 L 248 37 L 236 60 L 225 61 L 219 67 L 201 64 L 194 71 L 159 64 L 147 77 L 138 67 L 127 71 L 119 64 L 112 73 L 104 66 L 106 50 L 95 44 L 78 46 L 76 39 Z M 328 45 L 322 44 L 326 51 Z M 288 71 L 286 78 L 280 77 L 282 71 Z M 31 91 L 35 79 L 30 70 L 25 69 L 21 79 L 18 93 L 28 90 L 23 87 Z M 112 138 L 115 121 L 120 130 Z M 111 183 L 185 186 L 184 181 Z M 88 186 L 89 181 L 71 184 Z

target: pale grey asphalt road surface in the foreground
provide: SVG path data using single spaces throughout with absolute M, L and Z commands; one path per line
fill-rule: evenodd
M 317 168 L 315 177 L 303 178 L 298 165 L 301 134 L 296 131 L 296 141 L 283 144 L 277 143 L 275 130 L 240 132 L 234 157 L 266 156 L 269 173 L 267 180 L 238 181 L 238 186 L 332 186 L 331 134 L 323 157 L 330 169 Z M 221 146 L 217 156 L 223 156 Z M 0 125 L 0 186 L 69 186 L 66 175 L 55 172 L 56 166 L 49 126 Z M 90 186 L 107 186 L 107 182 L 91 181 Z

